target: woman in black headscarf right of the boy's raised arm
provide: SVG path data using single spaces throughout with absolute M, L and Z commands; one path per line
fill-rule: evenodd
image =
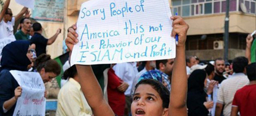
M 207 116 L 208 109 L 213 107 L 213 102 L 206 101 L 207 93 L 204 87 L 207 83 L 207 73 L 204 70 L 195 70 L 188 79 L 188 116 Z

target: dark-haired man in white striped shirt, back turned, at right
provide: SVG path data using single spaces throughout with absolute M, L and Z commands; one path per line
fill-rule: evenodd
M 218 100 L 215 116 L 220 116 L 223 109 L 224 116 L 230 116 L 232 101 L 236 90 L 241 89 L 249 83 L 245 67 L 248 65 L 248 59 L 237 57 L 233 60 L 233 71 L 235 74 L 224 80 L 218 89 Z

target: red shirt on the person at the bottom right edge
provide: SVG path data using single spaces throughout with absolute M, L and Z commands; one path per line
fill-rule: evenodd
M 255 116 L 256 84 L 244 86 L 236 91 L 232 106 L 238 106 L 241 116 Z

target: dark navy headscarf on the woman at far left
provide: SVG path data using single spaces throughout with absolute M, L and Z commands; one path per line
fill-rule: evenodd
M 2 49 L 1 70 L 27 71 L 27 65 L 31 64 L 27 58 L 27 50 L 30 42 L 27 40 L 16 40 Z

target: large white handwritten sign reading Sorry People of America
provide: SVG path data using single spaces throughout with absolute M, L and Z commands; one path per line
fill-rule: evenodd
M 82 4 L 71 64 L 175 57 L 168 0 L 92 0 Z

